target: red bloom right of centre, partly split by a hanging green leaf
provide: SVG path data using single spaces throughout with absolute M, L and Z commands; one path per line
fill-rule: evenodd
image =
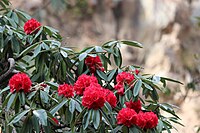
M 116 77 L 117 84 L 114 88 L 119 95 L 124 95 L 124 84 L 130 85 L 135 79 L 134 75 L 128 72 L 119 73 Z

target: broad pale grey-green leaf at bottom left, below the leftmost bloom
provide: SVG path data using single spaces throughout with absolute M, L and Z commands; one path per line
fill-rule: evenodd
M 47 113 L 44 109 L 34 110 L 33 114 L 40 120 L 43 126 L 47 126 Z

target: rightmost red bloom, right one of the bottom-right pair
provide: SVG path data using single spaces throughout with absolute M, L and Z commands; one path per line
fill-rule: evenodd
M 145 129 L 155 128 L 158 125 L 158 117 L 153 112 L 140 112 L 136 125 Z

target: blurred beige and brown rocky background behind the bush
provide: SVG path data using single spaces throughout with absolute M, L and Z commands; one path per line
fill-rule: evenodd
M 123 64 L 142 73 L 180 80 L 170 84 L 161 102 L 180 107 L 185 127 L 200 130 L 200 0 L 11 0 L 43 25 L 58 29 L 63 45 L 78 47 L 116 39 L 135 40 L 143 49 L 122 46 Z M 177 131 L 173 131 L 177 132 Z M 200 131 L 199 131 L 200 132 Z

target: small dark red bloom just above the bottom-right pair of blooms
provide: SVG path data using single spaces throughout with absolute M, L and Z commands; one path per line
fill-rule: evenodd
M 139 111 L 141 111 L 142 104 L 141 104 L 140 100 L 137 100 L 135 102 L 133 102 L 133 101 L 125 102 L 125 104 L 126 104 L 127 108 L 134 109 L 135 112 L 137 112 L 137 113 L 139 113 Z

